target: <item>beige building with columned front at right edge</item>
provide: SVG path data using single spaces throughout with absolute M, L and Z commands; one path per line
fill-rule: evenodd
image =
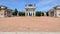
M 49 10 L 49 16 L 60 17 L 60 6 L 56 6 L 53 9 Z

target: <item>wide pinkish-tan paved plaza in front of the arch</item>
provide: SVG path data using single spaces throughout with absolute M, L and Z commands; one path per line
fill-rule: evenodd
M 0 32 L 60 32 L 60 18 L 55 17 L 0 18 Z

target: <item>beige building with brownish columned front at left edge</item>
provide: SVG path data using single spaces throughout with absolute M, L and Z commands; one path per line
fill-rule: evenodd
M 8 9 L 6 6 L 0 5 L 0 17 L 11 17 L 12 16 L 11 9 Z

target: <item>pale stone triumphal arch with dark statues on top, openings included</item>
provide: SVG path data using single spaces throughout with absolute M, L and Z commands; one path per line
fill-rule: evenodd
M 35 5 L 29 4 L 25 7 L 25 16 L 35 16 Z

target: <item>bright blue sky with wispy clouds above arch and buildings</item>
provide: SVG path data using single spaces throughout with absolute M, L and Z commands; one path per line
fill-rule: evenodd
M 60 5 L 60 0 L 0 0 L 0 5 L 13 10 L 17 8 L 19 11 L 24 11 L 26 4 L 36 4 L 36 11 L 48 11 Z

